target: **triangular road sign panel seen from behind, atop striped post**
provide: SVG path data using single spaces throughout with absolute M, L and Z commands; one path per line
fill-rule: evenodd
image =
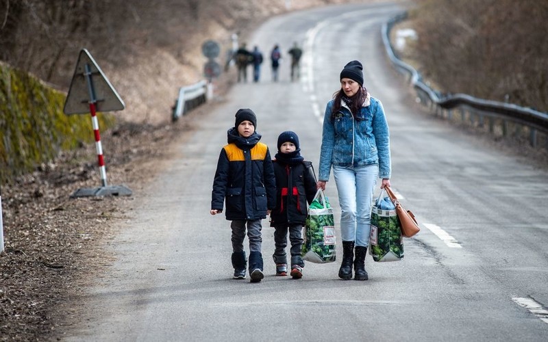
M 86 69 L 91 76 L 91 89 L 88 86 Z M 78 56 L 69 95 L 66 96 L 64 103 L 64 114 L 87 114 L 90 112 L 89 104 L 91 101 L 96 101 L 97 111 L 114 111 L 125 108 L 124 101 L 93 60 L 91 54 L 88 50 L 82 49 Z

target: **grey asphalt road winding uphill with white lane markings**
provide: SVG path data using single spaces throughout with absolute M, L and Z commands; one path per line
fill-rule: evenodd
M 410 103 L 380 37 L 382 23 L 400 10 L 345 5 L 264 23 L 249 46 L 268 54 L 278 43 L 288 57 L 292 42 L 301 42 L 301 81 L 290 82 L 288 58 L 277 83 L 265 64 L 260 83 L 237 84 L 199 119 L 179 158 L 121 226 L 111 244 L 119 259 L 83 296 L 85 317 L 64 341 L 547 341 L 548 172 Z M 272 154 L 280 132 L 296 131 L 317 170 L 325 103 L 354 59 L 384 104 L 391 182 L 421 233 L 404 241 L 403 261 L 375 263 L 368 255 L 369 281 L 339 280 L 338 262 L 307 263 L 303 279 L 292 280 L 273 275 L 273 229 L 264 220 L 264 280 L 232 280 L 229 222 L 209 209 L 236 110 L 256 112 Z M 326 193 L 338 222 L 333 181 Z

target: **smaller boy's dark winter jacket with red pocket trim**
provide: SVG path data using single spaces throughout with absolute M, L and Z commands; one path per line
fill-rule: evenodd
M 316 176 L 310 161 L 295 164 L 273 161 L 276 176 L 276 207 L 270 214 L 271 226 L 305 224 L 307 206 L 316 195 Z

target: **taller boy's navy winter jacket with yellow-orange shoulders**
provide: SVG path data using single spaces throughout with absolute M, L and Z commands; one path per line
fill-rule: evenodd
M 227 220 L 266 218 L 266 210 L 275 207 L 272 160 L 260 138 L 258 133 L 241 137 L 236 128 L 227 132 L 228 144 L 219 155 L 211 199 L 211 209 L 223 210 L 225 202 Z

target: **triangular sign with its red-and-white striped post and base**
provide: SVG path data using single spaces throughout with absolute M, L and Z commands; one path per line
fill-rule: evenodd
M 91 114 L 93 133 L 95 135 L 95 147 L 99 161 L 101 174 L 101 187 L 80 188 L 71 197 L 84 196 L 131 196 L 132 190 L 124 185 L 108 185 L 103 158 L 103 147 L 99 135 L 99 122 L 97 111 L 123 110 L 125 104 L 119 94 L 114 90 L 99 65 L 93 60 L 91 54 L 82 49 L 78 56 L 76 69 L 69 88 L 69 95 L 64 103 L 64 114 Z

